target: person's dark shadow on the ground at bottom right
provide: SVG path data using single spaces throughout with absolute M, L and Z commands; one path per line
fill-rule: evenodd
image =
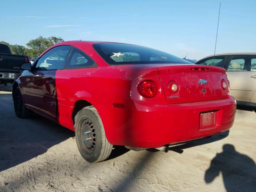
M 211 183 L 220 172 L 227 192 L 256 190 L 255 162 L 237 152 L 231 144 L 225 144 L 223 152 L 218 153 L 211 161 L 204 176 L 205 182 Z

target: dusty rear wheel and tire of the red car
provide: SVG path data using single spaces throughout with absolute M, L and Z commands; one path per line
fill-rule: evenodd
M 88 162 L 106 160 L 113 149 L 106 138 L 101 118 L 93 106 L 82 108 L 75 116 L 76 144 Z

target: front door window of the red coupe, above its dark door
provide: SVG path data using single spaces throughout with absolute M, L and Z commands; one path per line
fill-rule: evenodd
M 69 45 L 62 45 L 50 49 L 38 59 L 36 70 L 63 69 L 71 48 Z

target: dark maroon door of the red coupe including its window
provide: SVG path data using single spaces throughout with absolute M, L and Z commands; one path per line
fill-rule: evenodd
M 42 55 L 22 78 L 25 105 L 50 118 L 57 117 L 55 75 L 62 70 L 72 46 L 54 47 Z

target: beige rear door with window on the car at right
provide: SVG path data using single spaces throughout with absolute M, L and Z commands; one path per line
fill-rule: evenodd
M 250 102 L 256 90 L 256 56 L 231 56 L 227 74 L 231 95 L 237 101 Z

